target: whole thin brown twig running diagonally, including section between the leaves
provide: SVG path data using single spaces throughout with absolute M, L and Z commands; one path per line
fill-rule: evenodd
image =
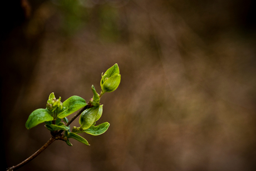
M 88 109 L 88 108 L 92 108 L 93 105 L 91 105 L 91 103 L 87 103 L 87 105 L 85 107 L 83 107 L 81 110 L 79 110 L 79 112 L 70 120 L 70 122 L 68 122 L 66 124 L 66 126 L 68 127 L 68 125 L 70 125 L 77 117 L 78 115 L 80 115 L 84 110 Z M 54 120 L 55 122 L 55 120 Z M 6 171 L 13 171 L 13 170 L 17 170 L 18 168 L 22 167 L 23 165 L 27 164 L 28 162 L 30 162 L 31 160 L 35 159 L 37 157 L 37 155 L 39 155 L 40 153 L 42 153 L 43 150 L 45 150 L 49 145 L 51 145 L 51 143 L 53 143 L 56 139 L 58 139 L 58 135 L 61 135 L 61 133 L 63 132 L 63 130 L 60 130 L 57 135 L 52 136 L 46 143 L 45 145 L 43 145 L 40 149 L 37 150 L 36 153 L 32 154 L 31 157 L 27 158 L 26 160 L 24 160 L 23 162 L 8 168 Z

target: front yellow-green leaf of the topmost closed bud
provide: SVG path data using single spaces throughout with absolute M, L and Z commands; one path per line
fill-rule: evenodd
M 114 74 L 112 77 L 107 79 L 104 84 L 102 84 L 101 89 L 104 92 L 113 92 L 119 86 L 121 81 L 120 74 Z

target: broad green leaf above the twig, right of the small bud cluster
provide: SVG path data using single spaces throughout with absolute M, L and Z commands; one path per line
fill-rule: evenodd
M 86 106 L 86 101 L 85 99 L 77 96 L 77 95 L 73 95 L 70 98 L 68 98 L 67 100 L 65 100 L 65 102 L 63 102 L 63 108 L 60 112 L 58 112 L 57 117 L 58 118 L 65 118 L 68 115 L 76 112 L 77 110 L 79 110 L 82 107 Z

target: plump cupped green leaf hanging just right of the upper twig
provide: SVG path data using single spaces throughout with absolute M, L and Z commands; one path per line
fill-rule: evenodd
M 95 107 L 86 109 L 81 113 L 79 118 L 79 123 L 82 129 L 88 129 L 95 122 L 96 116 L 99 112 L 100 106 L 97 105 Z

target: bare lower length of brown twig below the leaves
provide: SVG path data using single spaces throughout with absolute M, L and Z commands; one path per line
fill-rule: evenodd
M 17 170 L 18 168 L 22 167 L 23 165 L 27 164 L 28 162 L 30 162 L 31 160 L 33 160 L 34 158 L 37 157 L 37 155 L 39 155 L 40 153 L 43 152 L 43 150 L 45 150 L 51 143 L 53 143 L 55 141 L 55 138 L 51 137 L 46 143 L 45 145 L 43 145 L 40 149 L 37 150 L 36 153 L 32 154 L 31 157 L 27 158 L 26 160 L 24 160 L 23 162 L 8 168 L 6 171 L 13 171 L 13 170 Z

